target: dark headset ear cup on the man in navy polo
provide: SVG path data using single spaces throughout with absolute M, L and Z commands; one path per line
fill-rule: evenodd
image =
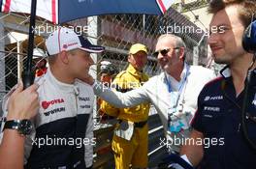
M 242 47 L 249 53 L 256 53 L 256 19 L 249 24 L 243 33 Z

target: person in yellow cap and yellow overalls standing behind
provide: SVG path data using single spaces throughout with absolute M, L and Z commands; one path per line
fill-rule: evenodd
M 133 44 L 129 50 L 128 62 L 128 68 L 119 72 L 112 82 L 112 86 L 116 86 L 115 90 L 122 93 L 139 88 L 148 80 L 148 75 L 144 73 L 147 62 L 146 46 L 141 43 Z M 103 101 L 101 108 L 119 121 L 112 138 L 115 168 L 129 169 L 130 165 L 133 168 L 146 168 L 149 104 L 123 109 Z

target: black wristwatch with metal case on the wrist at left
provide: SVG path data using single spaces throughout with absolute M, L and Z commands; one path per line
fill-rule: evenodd
M 19 134 L 28 135 L 31 133 L 33 126 L 30 120 L 24 119 L 24 120 L 7 121 L 5 123 L 4 129 L 6 128 L 16 129 Z

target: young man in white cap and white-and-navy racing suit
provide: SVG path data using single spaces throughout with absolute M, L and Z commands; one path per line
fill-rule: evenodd
M 40 108 L 32 119 L 34 130 L 26 135 L 25 168 L 92 168 L 94 94 L 79 79 L 94 64 L 90 53 L 104 47 L 68 28 L 51 33 L 46 45 L 49 68 L 37 81 Z

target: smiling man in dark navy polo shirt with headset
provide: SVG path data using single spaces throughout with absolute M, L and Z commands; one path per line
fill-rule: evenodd
M 256 12 L 254 0 L 211 0 L 209 46 L 214 61 L 226 64 L 221 76 L 209 82 L 198 98 L 190 140 L 180 154 L 202 169 L 255 169 L 256 151 L 243 136 L 241 107 L 246 72 L 252 65 L 246 112 L 256 114 L 256 64 L 241 44 L 244 29 Z M 256 142 L 256 124 L 246 119 L 248 135 Z

